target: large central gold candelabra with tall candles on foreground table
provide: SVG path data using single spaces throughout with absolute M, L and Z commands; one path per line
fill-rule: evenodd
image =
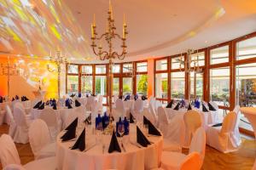
M 96 32 L 96 19 L 94 15 L 93 23 L 91 24 L 91 47 L 93 50 L 93 53 L 96 54 L 96 56 L 99 57 L 101 60 L 107 60 L 108 59 L 108 105 L 109 105 L 109 111 L 112 112 L 112 93 L 113 93 L 113 59 L 125 59 L 126 53 L 126 35 L 127 32 L 127 26 L 125 22 L 125 14 L 124 14 L 124 23 L 123 23 L 123 35 L 119 36 L 115 32 L 116 27 L 114 26 L 114 20 L 113 20 L 113 11 L 112 11 L 112 5 L 109 1 L 109 8 L 108 8 L 108 22 L 107 22 L 107 28 L 106 32 L 103 33 L 101 36 L 98 36 Z M 121 40 L 121 48 L 122 52 L 118 53 L 116 51 L 113 51 L 113 40 L 118 39 Z M 96 45 L 96 40 L 100 41 L 99 45 Z M 108 48 L 103 49 L 102 48 L 102 40 L 105 40 L 108 44 Z

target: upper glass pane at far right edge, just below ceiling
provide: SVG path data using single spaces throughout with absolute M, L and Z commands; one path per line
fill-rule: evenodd
M 256 37 L 236 43 L 236 59 L 250 59 L 256 57 Z

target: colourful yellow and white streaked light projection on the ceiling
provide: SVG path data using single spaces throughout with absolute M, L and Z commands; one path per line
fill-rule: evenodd
M 67 57 L 89 56 L 90 42 L 61 0 L 0 0 L 0 52 Z

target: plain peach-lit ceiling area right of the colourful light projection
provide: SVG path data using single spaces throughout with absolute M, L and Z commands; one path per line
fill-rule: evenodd
M 105 30 L 108 0 L 65 3 L 87 37 L 93 14 L 97 32 Z M 112 4 L 119 33 L 123 14 L 126 16 L 126 60 L 179 54 L 188 48 L 205 48 L 256 31 L 255 0 L 112 0 Z M 92 51 L 90 54 L 94 55 Z

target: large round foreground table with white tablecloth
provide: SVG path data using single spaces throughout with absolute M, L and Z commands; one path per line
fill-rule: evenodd
M 130 125 L 130 141 L 127 140 L 125 150 L 120 145 L 122 152 L 108 153 L 111 135 L 96 136 L 92 134 L 92 128 L 85 133 L 85 150 L 71 150 L 75 140 L 61 142 L 62 131 L 57 136 L 56 161 L 59 170 L 84 170 L 84 169 L 152 169 L 160 166 L 160 156 L 163 145 L 162 136 L 148 136 L 148 140 L 154 144 L 148 147 L 137 147 L 136 143 L 136 126 Z M 82 128 L 83 129 L 83 128 Z M 77 136 L 82 129 L 78 130 Z M 86 127 L 87 129 L 87 127 Z M 103 142 L 98 142 L 102 139 Z M 119 140 L 119 139 L 118 139 Z M 95 145 L 96 144 L 96 145 Z M 102 144 L 105 144 L 105 150 L 102 151 Z M 87 150 L 88 149 L 88 150 Z

